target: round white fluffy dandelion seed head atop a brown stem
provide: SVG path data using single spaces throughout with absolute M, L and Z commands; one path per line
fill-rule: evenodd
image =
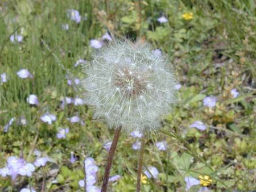
M 94 118 L 122 130 L 152 130 L 175 102 L 176 80 L 170 62 L 149 44 L 119 41 L 100 49 L 85 68 L 81 85 Z

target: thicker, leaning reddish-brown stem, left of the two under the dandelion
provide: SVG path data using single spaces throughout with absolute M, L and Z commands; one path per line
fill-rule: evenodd
M 108 156 L 108 160 L 106 162 L 106 168 L 105 168 L 103 183 L 102 183 L 102 187 L 101 187 L 101 192 L 106 192 L 106 190 L 108 189 L 110 168 L 111 168 L 111 165 L 112 165 L 115 149 L 117 148 L 117 142 L 118 142 L 118 139 L 119 139 L 119 133 L 121 131 L 121 128 L 122 127 L 118 127 L 115 130 L 115 135 L 114 135 L 111 147 L 109 149 L 109 156 Z

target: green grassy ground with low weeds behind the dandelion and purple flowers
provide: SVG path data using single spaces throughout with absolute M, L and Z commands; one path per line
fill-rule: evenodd
M 69 9 L 80 12 L 79 23 L 68 18 Z M 159 174 L 145 177 L 142 191 L 186 191 L 184 178 L 200 176 L 209 176 L 209 182 L 201 180 L 189 191 L 203 184 L 210 191 L 256 190 L 255 1 L 3 0 L 0 10 L 0 75 L 7 75 L 6 82 L 0 81 L 0 168 L 10 156 L 34 162 L 35 149 L 52 159 L 31 177 L 18 176 L 12 182 L 0 176 L 1 191 L 20 191 L 27 185 L 36 191 L 82 191 L 86 157 L 96 161 L 96 185 L 101 185 L 108 154 L 104 144 L 113 130 L 93 120 L 85 105 L 60 104 L 63 97 L 82 97 L 79 87 L 68 85 L 67 75 L 84 78 L 81 65 L 74 64 L 91 59 L 95 48 L 90 40 L 105 32 L 115 39 L 150 42 L 170 57 L 181 84 L 178 102 L 163 118 L 162 128 L 147 137 L 145 169 L 155 166 Z M 168 22 L 159 23 L 161 16 Z M 11 41 L 15 34 L 23 36 L 20 43 Z M 20 69 L 33 77 L 19 78 Z M 27 102 L 30 94 L 37 95 L 38 106 Z M 217 98 L 214 107 L 203 105 L 210 95 Z M 52 124 L 40 119 L 47 111 L 56 115 Z M 84 124 L 67 119 L 75 115 Z M 21 116 L 26 125 L 20 123 Z M 5 131 L 11 118 L 14 122 Z M 189 128 L 196 120 L 207 129 Z M 69 127 L 66 138 L 57 139 L 59 127 Z M 136 140 L 121 135 L 110 174 L 121 178 L 110 183 L 109 191 L 135 191 L 138 151 L 131 146 Z M 159 151 L 155 144 L 163 140 L 168 147 Z M 77 158 L 73 164 L 71 152 Z

